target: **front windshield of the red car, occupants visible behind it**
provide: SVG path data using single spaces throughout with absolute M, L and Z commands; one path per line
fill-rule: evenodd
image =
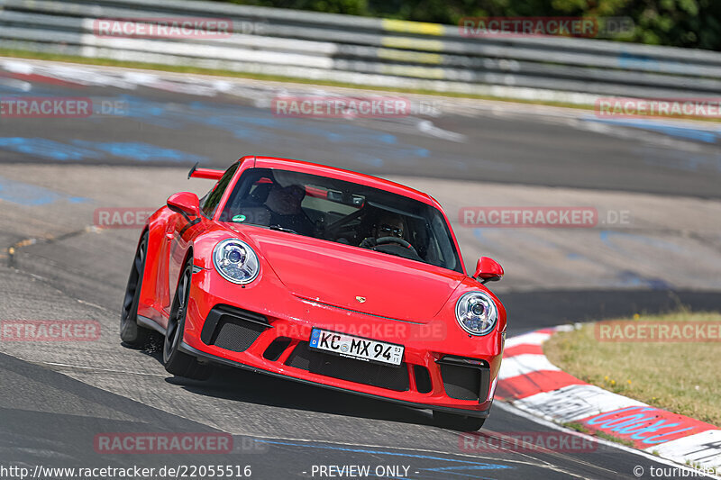
M 443 214 L 385 190 L 277 168 L 250 168 L 219 220 L 289 231 L 462 272 Z

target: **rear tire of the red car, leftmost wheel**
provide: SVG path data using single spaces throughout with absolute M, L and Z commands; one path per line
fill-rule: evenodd
M 120 340 L 135 349 L 141 349 L 150 339 L 151 330 L 138 325 L 138 305 L 141 300 L 142 274 L 148 254 L 148 232 L 142 234 L 141 242 L 132 259 L 132 268 L 125 286 L 123 310 L 120 314 Z

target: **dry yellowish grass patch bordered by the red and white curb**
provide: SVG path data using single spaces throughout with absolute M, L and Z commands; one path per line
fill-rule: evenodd
M 716 322 L 718 312 L 634 315 L 629 322 Z M 718 327 L 716 327 L 718 328 Z M 543 345 L 552 364 L 591 385 L 721 425 L 721 342 L 598 341 L 593 324 Z

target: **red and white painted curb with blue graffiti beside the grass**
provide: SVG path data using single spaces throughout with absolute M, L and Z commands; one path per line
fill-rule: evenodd
M 556 423 L 580 423 L 681 464 L 721 472 L 721 430 L 589 385 L 543 355 L 543 342 L 572 325 L 532 331 L 506 341 L 496 398 Z

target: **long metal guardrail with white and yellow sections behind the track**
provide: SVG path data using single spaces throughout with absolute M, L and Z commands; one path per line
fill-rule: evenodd
M 96 19 L 228 18 L 224 38 L 119 38 Z M 625 42 L 461 35 L 435 23 L 188 0 L 0 0 L 0 45 L 364 86 L 590 103 L 721 92 L 721 54 Z

